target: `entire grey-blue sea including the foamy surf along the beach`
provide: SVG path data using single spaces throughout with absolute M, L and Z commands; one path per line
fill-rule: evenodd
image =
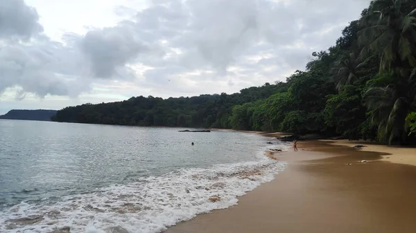
M 162 232 L 286 167 L 272 138 L 179 130 L 0 120 L 0 232 Z

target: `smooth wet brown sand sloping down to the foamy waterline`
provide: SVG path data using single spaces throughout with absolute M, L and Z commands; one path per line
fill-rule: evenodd
M 416 232 L 416 167 L 327 142 L 298 142 L 298 148 L 275 153 L 288 168 L 239 205 L 166 232 Z

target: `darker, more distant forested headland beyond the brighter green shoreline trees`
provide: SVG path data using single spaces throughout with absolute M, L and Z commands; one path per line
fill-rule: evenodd
M 168 127 L 218 127 L 229 128 L 232 107 L 237 104 L 266 99 L 287 84 L 268 84 L 250 87 L 241 93 L 227 95 L 200 95 L 168 98 L 132 97 L 123 102 L 83 104 L 58 111 L 53 120 L 92 124 L 123 124 Z

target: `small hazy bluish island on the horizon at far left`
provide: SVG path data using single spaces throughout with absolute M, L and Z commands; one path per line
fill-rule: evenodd
M 40 120 L 40 121 L 51 121 L 51 117 L 56 115 L 56 110 L 10 110 L 5 115 L 0 115 L 0 119 L 8 120 Z

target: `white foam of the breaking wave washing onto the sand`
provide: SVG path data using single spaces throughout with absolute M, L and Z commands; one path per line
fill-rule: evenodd
M 91 194 L 65 196 L 57 203 L 20 203 L 0 212 L 0 232 L 43 233 L 61 227 L 87 233 L 162 232 L 197 214 L 236 205 L 237 197 L 272 180 L 285 167 L 285 162 L 259 153 L 257 161 L 179 169 Z M 211 196 L 220 201 L 212 203 Z M 32 225 L 9 225 L 10 219 L 34 216 L 43 219 Z M 8 225 L 15 229 L 7 230 Z

